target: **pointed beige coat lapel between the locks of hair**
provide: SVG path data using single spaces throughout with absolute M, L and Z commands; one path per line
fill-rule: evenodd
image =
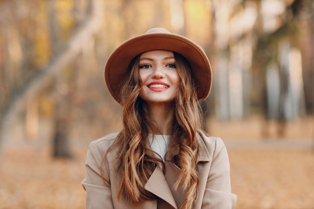
M 165 175 L 159 166 L 156 166 L 148 181 L 144 185 L 144 188 L 154 195 L 164 199 L 174 208 L 178 209 Z

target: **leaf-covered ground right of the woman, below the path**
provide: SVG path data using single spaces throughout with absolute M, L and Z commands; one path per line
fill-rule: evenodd
M 229 150 L 237 209 L 313 209 L 314 151 Z

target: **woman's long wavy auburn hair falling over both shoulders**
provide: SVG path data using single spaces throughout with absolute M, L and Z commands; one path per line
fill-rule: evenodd
M 143 200 L 156 198 L 144 189 L 144 185 L 154 168 L 161 165 L 165 172 L 165 164 L 161 156 L 147 146 L 148 133 L 151 133 L 149 115 L 143 109 L 139 93 L 142 83 L 139 77 L 139 57 L 135 57 L 129 67 L 129 75 L 122 83 L 120 94 L 123 129 L 109 149 L 117 148 L 117 173 L 121 183 L 117 199 L 123 193 L 129 202 L 138 204 Z M 173 123 L 170 125 L 171 138 L 169 147 L 179 147 L 179 154 L 172 161 L 181 168 L 181 173 L 173 185 L 185 189 L 185 198 L 180 209 L 191 208 L 198 191 L 199 176 L 197 159 L 199 144 L 197 130 L 201 128 L 200 106 L 195 91 L 195 84 L 189 62 L 174 52 L 178 74 L 181 78 L 179 93 L 172 102 L 174 109 Z

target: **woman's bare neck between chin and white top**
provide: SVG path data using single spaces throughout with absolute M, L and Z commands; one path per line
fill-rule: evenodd
M 149 117 L 153 134 L 170 135 L 174 110 L 170 105 L 148 105 L 145 111 Z

